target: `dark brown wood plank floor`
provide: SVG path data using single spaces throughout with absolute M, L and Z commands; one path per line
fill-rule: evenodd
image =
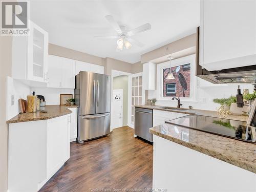
M 152 169 L 153 146 L 124 126 L 108 137 L 71 143 L 70 159 L 39 191 L 152 188 Z

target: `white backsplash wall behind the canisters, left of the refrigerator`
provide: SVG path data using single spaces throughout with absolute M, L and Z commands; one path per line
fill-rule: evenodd
M 74 89 L 59 89 L 59 88 L 35 88 L 31 87 L 31 92 L 35 91 L 36 95 L 42 95 L 45 97 L 46 104 L 60 104 L 60 94 L 73 94 Z

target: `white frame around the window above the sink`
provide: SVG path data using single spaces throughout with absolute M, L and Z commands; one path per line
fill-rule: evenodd
M 196 54 L 172 60 L 172 67 L 190 63 L 190 93 L 189 97 L 180 97 L 182 101 L 197 102 Z M 163 97 L 163 70 L 169 68 L 170 61 L 157 65 L 157 100 L 170 100 L 171 96 Z

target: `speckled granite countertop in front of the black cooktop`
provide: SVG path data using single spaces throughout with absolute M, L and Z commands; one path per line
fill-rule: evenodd
M 256 144 L 169 123 L 152 127 L 150 133 L 256 173 Z

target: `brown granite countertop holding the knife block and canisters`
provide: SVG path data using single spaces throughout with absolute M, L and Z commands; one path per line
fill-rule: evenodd
M 67 115 L 72 113 L 68 108 L 77 108 L 77 105 L 46 105 L 44 107 L 40 107 L 40 109 L 44 109 L 47 113 L 40 113 L 40 111 L 33 113 L 20 113 L 15 117 L 11 118 L 7 121 L 7 123 L 18 123 L 18 122 L 26 122 L 26 121 L 38 121 L 51 119 L 55 117 L 59 117 L 62 115 Z

